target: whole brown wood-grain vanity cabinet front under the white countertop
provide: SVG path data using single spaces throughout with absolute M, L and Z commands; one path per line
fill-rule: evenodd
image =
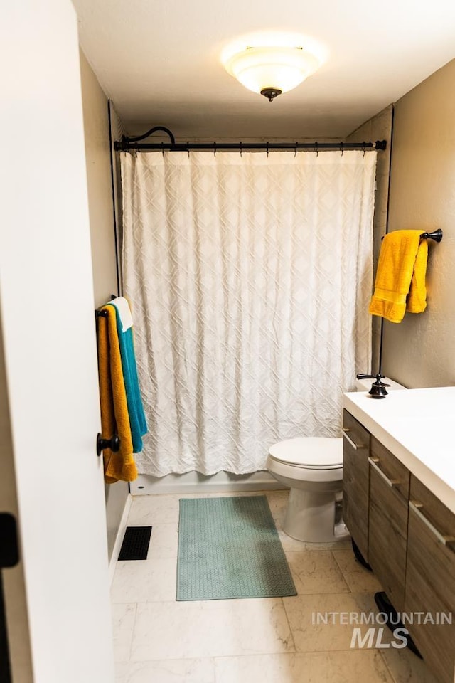
M 437 681 L 454 683 L 455 514 L 346 410 L 343 436 L 345 524 L 395 610 L 411 615 L 405 628 Z

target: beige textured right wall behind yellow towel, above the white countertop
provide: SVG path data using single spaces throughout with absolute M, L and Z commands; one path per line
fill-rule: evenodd
M 455 60 L 395 105 L 389 231 L 442 228 L 429 243 L 427 310 L 384 323 L 385 374 L 410 388 L 455 383 Z

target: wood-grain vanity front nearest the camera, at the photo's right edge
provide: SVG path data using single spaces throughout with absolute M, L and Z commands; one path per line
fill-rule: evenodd
M 441 683 L 454 681 L 455 515 L 411 477 L 405 611 L 431 615 L 410 633 Z M 452 624 L 431 623 L 448 615 Z

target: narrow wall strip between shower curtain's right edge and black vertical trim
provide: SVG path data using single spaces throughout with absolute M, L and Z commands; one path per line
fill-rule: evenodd
M 378 265 L 381 238 L 387 231 L 387 200 L 389 196 L 390 151 L 392 141 L 393 106 L 389 105 L 382 112 L 373 116 L 359 128 L 355 129 L 346 142 L 375 142 L 386 140 L 387 148 L 378 152 L 376 162 L 375 215 L 373 218 L 373 265 Z M 378 372 L 380 347 L 380 318 L 372 316 L 372 357 L 371 369 L 358 368 L 358 372 Z

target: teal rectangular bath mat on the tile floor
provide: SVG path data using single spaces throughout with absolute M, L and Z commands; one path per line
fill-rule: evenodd
M 267 497 L 180 500 L 177 600 L 296 594 Z

